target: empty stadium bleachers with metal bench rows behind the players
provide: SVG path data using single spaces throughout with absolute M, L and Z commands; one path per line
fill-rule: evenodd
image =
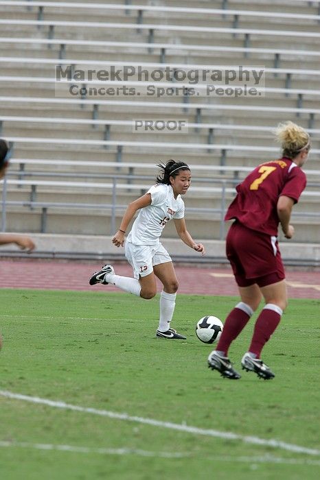
M 272 130 L 291 119 L 312 136 L 296 241 L 319 241 L 319 2 L 261 1 L 259 9 L 248 2 L 246 10 L 236 0 L 196 5 L 0 0 L 0 134 L 13 152 L 2 228 L 111 235 L 125 205 L 152 183 L 155 165 L 174 157 L 192 166 L 190 230 L 223 239 L 234 184 L 277 156 Z M 149 73 L 257 66 L 265 82 L 258 97 L 58 97 L 55 65 L 141 66 Z M 117 83 L 141 85 L 133 75 L 104 86 Z M 133 131 L 133 119 L 149 118 L 183 119 L 188 128 Z

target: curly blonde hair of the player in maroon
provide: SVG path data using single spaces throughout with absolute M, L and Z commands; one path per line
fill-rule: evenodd
M 275 129 L 275 138 L 281 144 L 283 155 L 295 158 L 305 148 L 310 148 L 310 135 L 293 121 L 279 123 Z

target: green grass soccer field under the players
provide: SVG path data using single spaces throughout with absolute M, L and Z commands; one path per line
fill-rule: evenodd
M 236 301 L 179 295 L 172 326 L 187 340 L 170 341 L 155 337 L 158 297 L 1 290 L 0 390 L 32 401 L 0 395 L 0 478 L 318 479 L 320 302 L 290 301 L 263 352 L 274 380 L 229 381 L 194 326 Z M 254 319 L 229 352 L 239 372 Z

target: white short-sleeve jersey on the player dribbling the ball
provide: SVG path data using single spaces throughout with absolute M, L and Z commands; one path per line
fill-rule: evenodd
M 141 208 L 127 237 L 135 245 L 156 245 L 168 221 L 185 216 L 181 195 L 174 198 L 171 185 L 159 183 L 147 193 L 151 195 L 151 204 Z

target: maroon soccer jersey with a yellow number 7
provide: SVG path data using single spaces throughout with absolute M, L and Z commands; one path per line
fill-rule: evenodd
M 247 228 L 277 235 L 279 196 L 286 195 L 296 203 L 305 188 L 306 174 L 290 158 L 262 163 L 237 185 L 225 220 L 238 219 Z

